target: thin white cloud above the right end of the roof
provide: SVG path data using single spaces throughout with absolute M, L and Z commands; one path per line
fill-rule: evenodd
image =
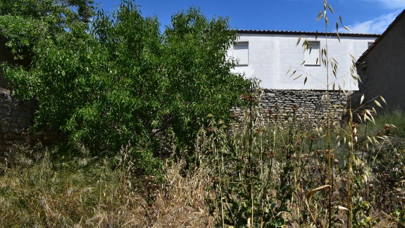
M 379 1 L 388 2 L 389 0 L 379 0 Z M 393 1 L 405 2 L 405 0 L 393 0 Z M 395 18 L 397 17 L 397 15 L 400 12 L 401 12 L 401 10 L 397 10 L 392 13 L 381 15 L 372 20 L 357 22 L 357 23 L 347 26 L 350 28 L 351 31 L 347 31 L 345 29 L 339 29 L 339 32 L 341 32 L 341 33 L 349 32 L 349 33 L 381 34 L 387 29 L 388 25 L 390 25 L 391 22 L 393 22 L 395 20 Z

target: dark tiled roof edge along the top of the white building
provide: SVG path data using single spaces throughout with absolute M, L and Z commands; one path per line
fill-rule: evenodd
M 303 32 L 303 31 L 274 31 L 274 30 L 236 30 L 243 34 L 283 34 L 283 35 L 318 35 L 322 36 L 322 32 Z M 328 33 L 331 36 L 337 36 L 336 33 Z M 339 33 L 339 36 L 350 37 L 379 37 L 380 34 L 361 34 L 361 33 Z

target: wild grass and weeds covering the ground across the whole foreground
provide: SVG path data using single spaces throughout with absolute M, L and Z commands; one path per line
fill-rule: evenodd
M 316 189 L 328 185 L 328 152 L 320 149 L 325 137 L 297 127 L 293 112 L 288 126 L 261 118 L 258 98 L 245 97 L 252 109 L 240 129 L 209 116 L 191 169 L 171 158 L 161 175 L 138 176 L 136 162 L 128 159 L 131 146 L 118 158 L 61 158 L 53 156 L 60 149 L 11 148 L 8 166 L 1 166 L 1 227 L 327 226 L 329 187 Z M 396 115 L 398 120 L 390 117 L 393 126 L 404 114 Z M 352 226 L 401 227 L 404 138 L 370 130 L 370 142 L 359 133 L 349 171 L 347 143 L 339 136 L 348 129 L 335 129 L 331 137 L 333 226 L 347 227 L 351 172 Z

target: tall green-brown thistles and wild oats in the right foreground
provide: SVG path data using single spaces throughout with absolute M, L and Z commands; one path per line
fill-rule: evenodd
M 357 133 L 354 122 L 332 129 L 329 152 L 326 135 L 302 128 L 294 109 L 287 125 L 262 118 L 260 96 L 243 97 L 240 129 L 212 117 L 199 133 L 200 163 L 215 170 L 218 227 L 327 227 L 329 194 L 333 227 L 403 223 L 405 142 L 390 136 L 394 124 L 382 125 L 383 134 Z

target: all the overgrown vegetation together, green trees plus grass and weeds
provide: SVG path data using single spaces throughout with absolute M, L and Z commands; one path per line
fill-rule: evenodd
M 143 18 L 132 1 L 112 17 L 99 12 L 91 27 L 74 10 L 57 24 L 44 20 L 49 13 L 4 5 L 8 47 L 17 59 L 32 58 L 6 66 L 15 94 L 39 98 L 34 130 L 58 126 L 68 143 L 4 154 L 1 226 L 403 226 L 401 111 L 348 110 L 348 123 L 334 128 L 303 124 L 297 106 L 265 119 L 259 85 L 230 74 L 225 52 L 236 34 L 226 19 L 209 21 L 197 9 L 175 14 L 160 34 L 156 18 Z M 318 18 L 327 26 L 328 10 L 325 0 Z M 11 29 L 33 24 L 57 32 L 33 39 Z M 47 34 L 41 29 L 32 27 Z M 336 77 L 327 47 L 320 62 Z M 244 116 L 232 120 L 236 103 Z M 278 118 L 285 114 L 286 122 Z

